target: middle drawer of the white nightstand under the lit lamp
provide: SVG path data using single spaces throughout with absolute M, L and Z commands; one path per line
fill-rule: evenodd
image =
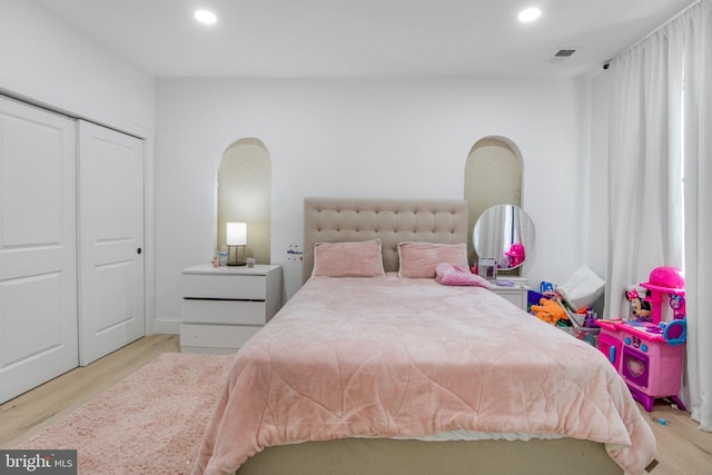
M 180 319 L 187 324 L 265 325 L 265 301 L 184 299 Z

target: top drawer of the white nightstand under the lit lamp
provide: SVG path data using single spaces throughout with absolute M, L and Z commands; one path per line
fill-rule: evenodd
M 225 298 L 265 300 L 267 279 L 256 275 L 184 274 L 182 296 L 189 298 Z

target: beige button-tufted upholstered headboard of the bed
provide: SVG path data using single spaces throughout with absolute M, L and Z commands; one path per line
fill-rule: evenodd
M 467 240 L 464 199 L 305 198 L 303 279 L 312 276 L 314 245 L 380 238 L 386 271 L 398 270 L 398 243 Z

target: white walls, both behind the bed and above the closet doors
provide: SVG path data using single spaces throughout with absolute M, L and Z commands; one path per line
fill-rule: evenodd
M 289 296 L 300 285 L 300 266 L 287 261 L 286 249 L 301 245 L 305 196 L 462 198 L 466 156 L 486 136 L 506 137 L 523 154 L 523 205 L 538 232 L 525 268 L 531 283 L 562 283 L 587 256 L 577 234 L 589 225 L 580 177 L 590 111 L 587 91 L 574 81 L 161 79 L 155 86 L 24 0 L 0 0 L 0 91 L 148 139 L 148 211 L 155 187 L 156 224 L 147 228 L 147 245 L 155 231 L 156 289 L 149 266 L 147 310 L 150 317 L 155 295 L 159 331 L 177 330 L 180 269 L 212 255 L 217 166 L 244 137 L 263 140 L 273 160 L 271 255 L 285 265 Z

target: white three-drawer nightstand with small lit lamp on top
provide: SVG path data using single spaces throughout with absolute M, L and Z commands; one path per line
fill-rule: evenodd
M 281 308 L 281 267 L 189 267 L 181 276 L 180 352 L 235 353 Z

